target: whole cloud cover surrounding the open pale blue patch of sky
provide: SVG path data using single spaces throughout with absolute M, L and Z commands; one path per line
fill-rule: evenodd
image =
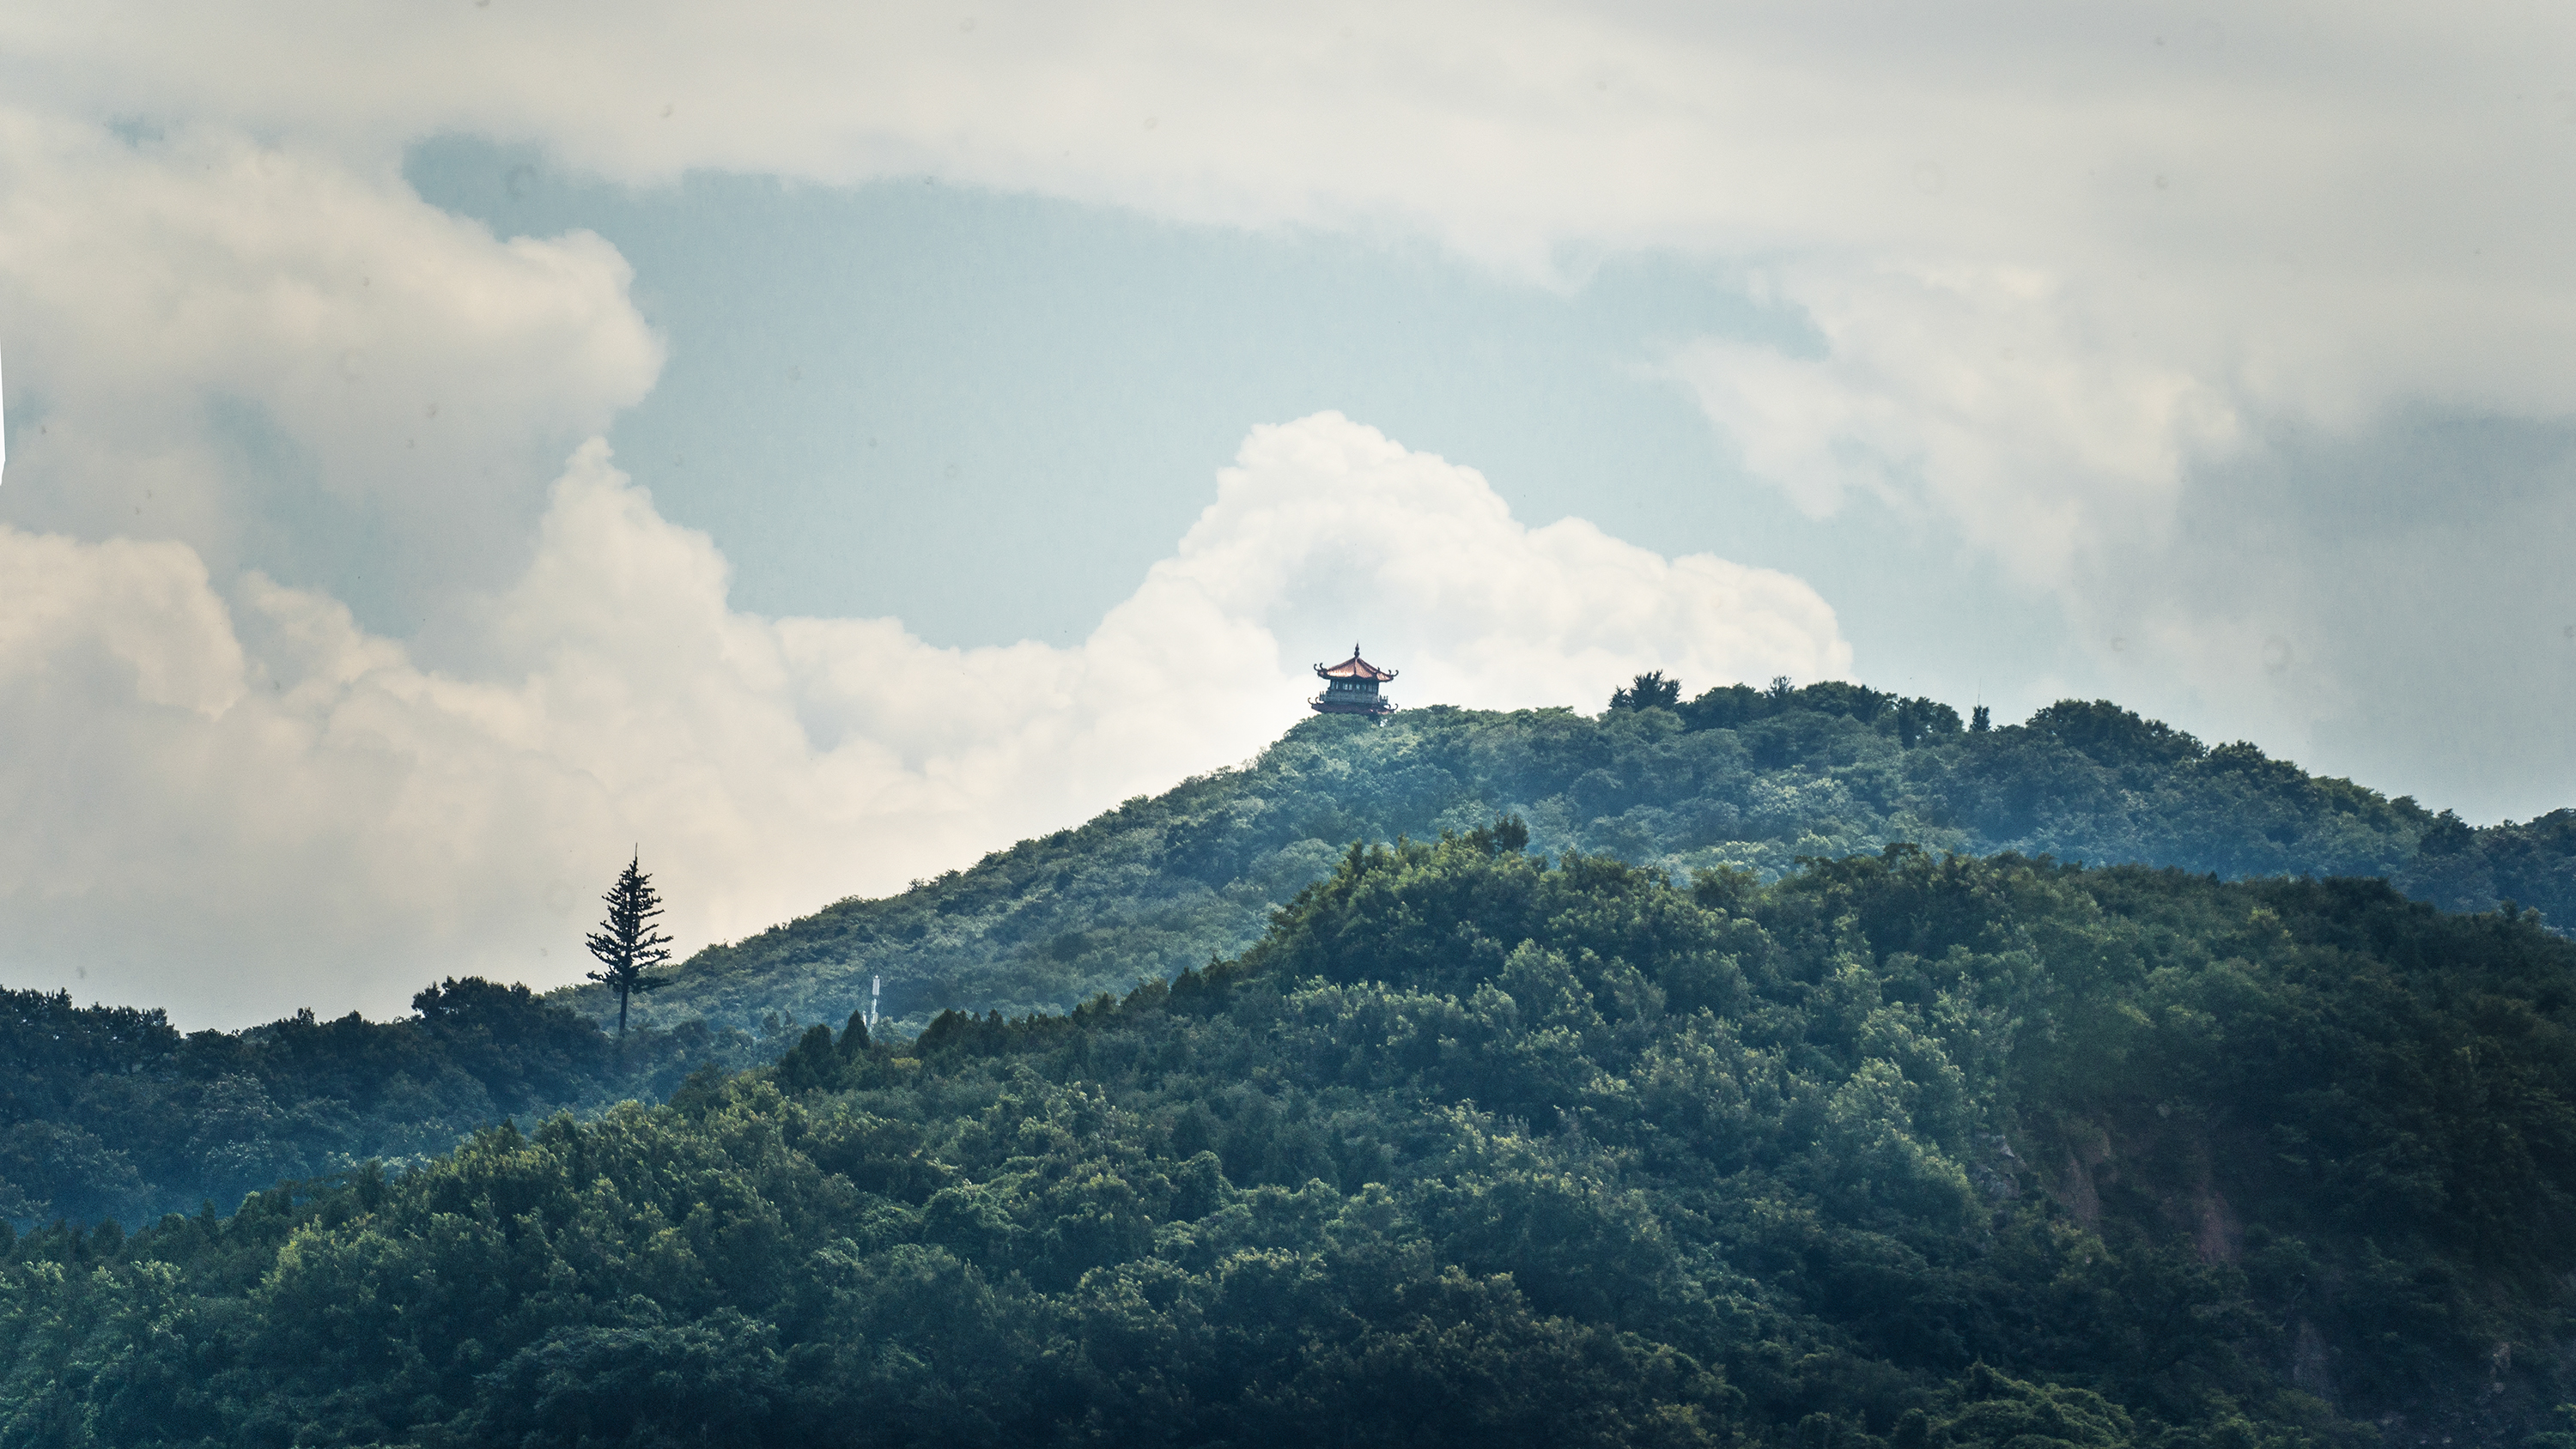
M 1404 556 L 1425 697 L 1850 667 L 1790 579 L 1522 530 L 1332 420 L 1255 435 L 1079 651 L 732 615 L 714 548 L 577 450 L 662 365 L 623 257 L 425 206 L 399 157 L 448 131 L 634 183 L 933 172 L 1425 234 L 1540 283 L 1677 250 L 1811 327 L 1662 360 L 1798 507 L 1942 522 L 2202 734 L 2568 803 L 2571 41 L 2506 5 L 5 8 L 0 770 L 33 829 L 0 970 L 381 1009 L 569 939 L 639 834 L 701 842 L 690 932 L 891 885 L 1249 754 L 1298 600 L 1383 569 L 1329 546 L 1370 510 L 1461 533 Z M 417 636 L 252 571 L 317 548 L 394 571 Z M 1437 569 L 1468 556 L 1512 574 Z M 1159 682 L 1149 651 L 1208 703 L 1123 718 L 1103 679 Z M 981 708 L 909 718 L 868 682 L 904 672 Z M 211 952 L 191 911 L 229 921 Z M 209 955 L 258 986 L 183 999 Z

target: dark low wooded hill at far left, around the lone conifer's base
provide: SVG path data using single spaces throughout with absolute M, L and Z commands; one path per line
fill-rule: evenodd
M 185 1037 L 162 1011 L 0 991 L 0 1220 L 232 1210 L 278 1179 L 399 1166 L 507 1114 L 657 1102 L 698 1063 L 773 1055 L 703 1024 L 618 1045 L 526 986 L 477 978 L 430 986 L 397 1022 L 304 1011 Z

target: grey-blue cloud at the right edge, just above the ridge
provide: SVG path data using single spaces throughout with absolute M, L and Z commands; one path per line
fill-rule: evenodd
M 2329 775 L 2532 816 L 2576 800 L 2576 430 L 2269 427 L 2192 468 L 2169 543 L 2105 548 L 2069 618 L 2136 708 Z

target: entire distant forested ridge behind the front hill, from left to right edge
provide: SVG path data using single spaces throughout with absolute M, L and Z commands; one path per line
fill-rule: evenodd
M 662 1099 L 698 1063 L 768 1063 L 793 1024 L 842 1019 L 871 973 L 899 1032 L 943 1006 L 1025 1014 L 1247 950 L 1347 842 L 1517 811 L 1533 847 L 1777 878 L 1886 842 L 2200 872 L 2391 875 L 2421 898 L 2576 919 L 2576 813 L 2470 829 L 2311 780 L 2251 746 L 2202 749 L 2112 705 L 1963 728 L 1852 685 L 1713 690 L 1662 679 L 1602 718 L 1417 710 L 1316 718 L 1255 764 L 987 857 L 891 901 L 842 901 L 701 952 L 639 999 L 623 1050 L 605 993 L 536 1001 L 448 981 L 415 1017 L 180 1037 L 157 1011 L 0 993 L 0 1217 L 139 1223 L 366 1158 L 404 1163 L 502 1117 Z M 574 1011 L 580 1006 L 582 1011 Z M 716 1024 L 711 1027 L 708 1019 Z

